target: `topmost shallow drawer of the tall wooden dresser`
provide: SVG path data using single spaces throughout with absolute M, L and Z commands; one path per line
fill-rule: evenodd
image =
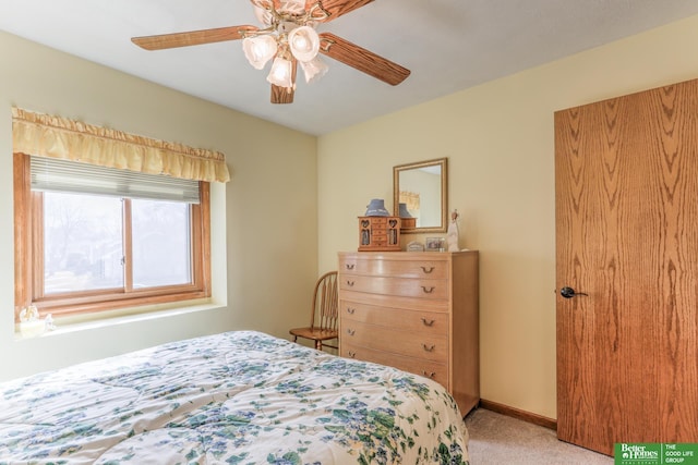
M 429 255 L 431 253 L 424 254 Z M 340 258 L 339 273 L 448 279 L 448 267 L 443 260 L 372 260 L 350 255 Z

